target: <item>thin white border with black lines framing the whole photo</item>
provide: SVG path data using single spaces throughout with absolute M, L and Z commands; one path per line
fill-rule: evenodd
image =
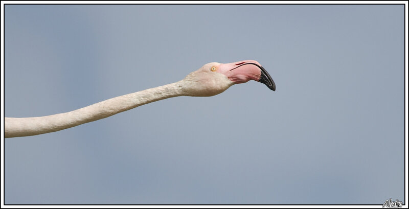
M 2 1 L 1 2 L 1 98 L 4 99 L 4 5 L 5 4 L 404 4 L 405 5 L 405 205 L 408 208 L 408 68 L 407 68 L 407 5 L 406 1 Z M 1 207 L 2 208 L 373 208 L 377 205 L 5 205 L 4 204 L 4 100 L 1 102 Z M 379 204 L 382 208 L 382 203 Z M 386 207 L 385 207 L 386 208 Z

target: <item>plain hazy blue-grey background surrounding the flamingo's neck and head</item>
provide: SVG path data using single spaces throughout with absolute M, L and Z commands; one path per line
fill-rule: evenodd
M 403 5 L 6 5 L 5 116 L 260 62 L 177 97 L 5 140 L 5 204 L 383 204 L 404 198 Z

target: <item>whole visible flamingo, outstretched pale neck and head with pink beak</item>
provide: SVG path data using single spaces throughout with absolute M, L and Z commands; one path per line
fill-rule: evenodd
M 59 131 L 172 97 L 211 97 L 249 80 L 259 81 L 276 90 L 271 76 L 255 60 L 224 64 L 210 62 L 175 83 L 111 98 L 70 112 L 33 118 L 6 117 L 4 135 L 7 138 Z

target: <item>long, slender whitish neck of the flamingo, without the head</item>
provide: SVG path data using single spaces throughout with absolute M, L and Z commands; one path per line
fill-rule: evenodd
M 34 118 L 5 118 L 5 137 L 30 136 L 71 128 L 171 97 L 185 96 L 184 80 L 108 99 L 71 112 Z

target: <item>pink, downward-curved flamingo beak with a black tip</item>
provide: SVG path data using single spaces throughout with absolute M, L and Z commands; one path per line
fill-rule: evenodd
M 235 83 L 245 83 L 255 80 L 264 83 L 269 89 L 276 90 L 276 84 L 267 71 L 255 60 L 243 60 L 220 64 L 218 71 Z

